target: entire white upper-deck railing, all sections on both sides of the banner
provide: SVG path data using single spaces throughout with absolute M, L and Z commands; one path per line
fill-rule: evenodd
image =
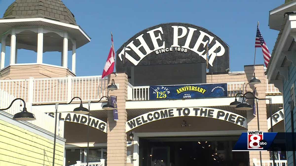
M 228 96 L 244 92 L 244 87 L 244 82 L 227 82 Z M 75 96 L 83 101 L 99 100 L 107 94 L 106 88 L 107 78 L 101 76 L 0 80 L 0 89 L 32 104 L 69 102 Z M 266 93 L 281 94 L 273 84 L 266 84 Z M 149 100 L 149 86 L 128 83 L 128 100 Z

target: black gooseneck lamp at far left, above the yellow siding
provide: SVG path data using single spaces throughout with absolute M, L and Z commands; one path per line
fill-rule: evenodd
M 27 111 L 26 102 L 21 98 L 16 98 L 16 99 L 12 100 L 12 102 L 10 103 L 8 108 L 4 108 L 4 109 L 0 109 L 0 110 L 1 111 L 8 110 L 12 106 L 13 102 L 15 102 L 15 100 L 22 100 L 22 102 L 24 103 L 24 108 L 22 109 L 22 112 L 16 113 L 15 115 L 13 115 L 13 118 L 12 118 L 13 120 L 16 120 L 16 121 L 34 121 L 34 120 L 36 120 L 35 115 L 33 113 L 29 113 Z

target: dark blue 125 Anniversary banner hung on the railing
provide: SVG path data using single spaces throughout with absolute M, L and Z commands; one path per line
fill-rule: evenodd
M 227 97 L 227 84 L 150 86 L 149 100 Z

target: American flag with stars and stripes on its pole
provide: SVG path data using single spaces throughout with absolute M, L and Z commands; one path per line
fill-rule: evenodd
M 263 58 L 265 66 L 268 66 L 269 59 L 271 57 L 270 52 L 267 48 L 267 45 L 263 39 L 263 36 L 261 35 L 259 28 L 257 27 L 257 34 L 256 34 L 256 40 L 255 40 L 255 47 L 261 47 L 263 52 Z

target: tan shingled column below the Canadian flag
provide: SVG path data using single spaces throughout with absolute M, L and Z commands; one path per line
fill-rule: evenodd
M 108 111 L 107 120 L 107 166 L 126 166 L 126 100 L 128 77 L 125 73 L 111 74 L 109 84 L 114 79 L 119 89 L 109 91 L 109 96 L 117 96 L 118 121 L 114 121 L 113 111 Z

